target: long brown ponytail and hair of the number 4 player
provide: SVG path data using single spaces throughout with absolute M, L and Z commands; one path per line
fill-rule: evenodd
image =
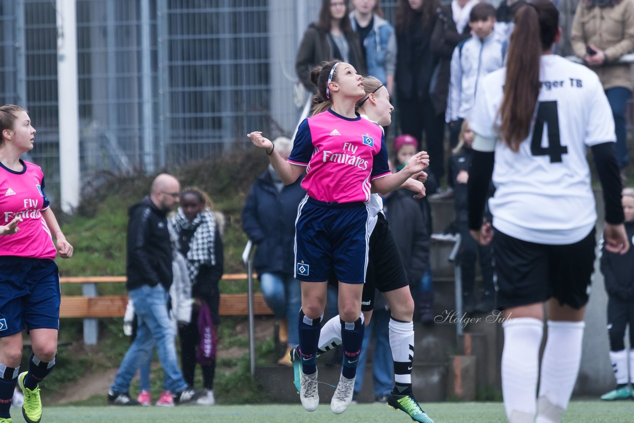
M 559 11 L 550 0 L 530 0 L 515 13 L 504 98 L 498 112 L 500 136 L 514 152 L 531 131 L 540 95 L 541 53 L 552 48 L 558 28 Z

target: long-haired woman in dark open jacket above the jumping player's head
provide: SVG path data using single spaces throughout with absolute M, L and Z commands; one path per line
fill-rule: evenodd
M 323 0 L 319 22 L 311 23 L 297 49 L 295 72 L 309 93 L 317 87 L 311 81 L 311 70 L 321 62 L 338 59 L 350 63 L 360 75 L 365 75 L 365 56 L 359 37 L 348 18 L 347 0 Z

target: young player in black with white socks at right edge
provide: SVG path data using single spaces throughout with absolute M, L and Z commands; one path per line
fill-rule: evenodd
M 601 272 L 605 278 L 607 290 L 607 327 L 610 337 L 610 361 L 616 377 L 616 388 L 604 394 L 606 401 L 628 400 L 634 396 L 634 189 L 623 190 L 623 214 L 625 230 L 630 240 L 630 250 L 625 254 L 616 254 L 601 249 Z M 625 329 L 630 325 L 630 358 L 625 349 Z

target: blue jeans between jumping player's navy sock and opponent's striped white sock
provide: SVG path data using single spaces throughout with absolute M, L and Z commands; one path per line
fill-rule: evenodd
M 365 363 L 368 358 L 368 345 L 370 338 L 374 334 L 374 355 L 372 366 L 372 386 L 374 396 L 384 396 L 392 391 L 394 386 L 394 360 L 392 360 L 392 348 L 390 347 L 389 323 L 391 311 L 374 309 L 370 325 L 365 328 L 363 334 L 363 346 L 359 355 L 357 365 L 358 372 L 354 381 L 354 393 L 358 394 L 363 387 L 363 375 L 365 373 Z

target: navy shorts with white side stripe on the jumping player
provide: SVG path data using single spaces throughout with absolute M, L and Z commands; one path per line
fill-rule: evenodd
M 370 213 L 363 202 L 326 203 L 308 196 L 297 207 L 295 278 L 323 282 L 365 282 Z

